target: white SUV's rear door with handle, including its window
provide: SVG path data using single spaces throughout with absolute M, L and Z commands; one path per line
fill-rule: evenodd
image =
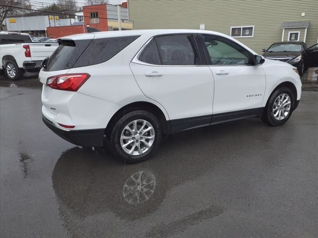
M 210 123 L 213 76 L 200 65 L 193 35 L 156 37 L 137 58 L 130 67 L 139 87 L 165 108 L 170 120 L 206 116 L 197 124 Z

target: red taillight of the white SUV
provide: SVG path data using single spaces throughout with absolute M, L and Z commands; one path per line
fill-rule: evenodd
M 49 77 L 46 85 L 53 89 L 76 92 L 89 77 L 88 73 L 60 74 Z

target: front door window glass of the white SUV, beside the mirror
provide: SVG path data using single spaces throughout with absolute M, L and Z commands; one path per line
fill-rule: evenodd
M 249 53 L 236 43 L 223 37 L 203 35 L 211 64 L 249 64 Z

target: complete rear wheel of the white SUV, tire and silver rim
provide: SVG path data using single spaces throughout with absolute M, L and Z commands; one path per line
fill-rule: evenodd
M 161 126 L 153 114 L 137 110 L 119 119 L 110 136 L 110 148 L 128 163 L 149 159 L 161 142 Z

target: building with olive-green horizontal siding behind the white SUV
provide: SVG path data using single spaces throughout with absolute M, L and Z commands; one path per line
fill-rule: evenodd
M 318 0 L 128 0 L 134 29 L 205 29 L 257 53 L 273 42 L 318 43 Z

